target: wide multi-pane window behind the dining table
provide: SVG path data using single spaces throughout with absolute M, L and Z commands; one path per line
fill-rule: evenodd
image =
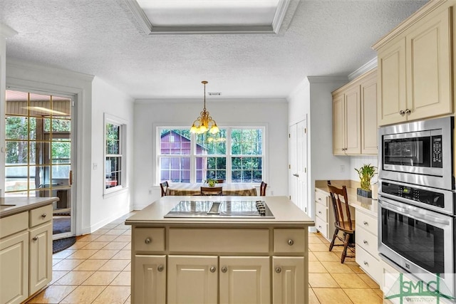
M 160 182 L 261 182 L 264 127 L 220 128 L 216 135 L 192 135 L 188 128 L 157 128 Z

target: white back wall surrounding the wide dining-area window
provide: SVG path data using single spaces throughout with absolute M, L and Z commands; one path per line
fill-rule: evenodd
M 288 195 L 288 104 L 286 100 L 206 100 L 206 108 L 219 127 L 267 125 L 265 182 L 269 194 Z M 134 171 L 135 209 L 160 198 L 156 180 L 156 134 L 154 126 L 192 125 L 202 110 L 201 100 L 136 100 Z

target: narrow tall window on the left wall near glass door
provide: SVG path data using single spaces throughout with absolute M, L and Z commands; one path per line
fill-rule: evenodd
M 125 129 L 123 122 L 105 115 L 105 193 L 125 187 Z

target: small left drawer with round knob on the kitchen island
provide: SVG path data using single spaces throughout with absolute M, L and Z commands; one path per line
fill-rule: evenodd
M 133 229 L 135 251 L 165 251 L 165 228 Z

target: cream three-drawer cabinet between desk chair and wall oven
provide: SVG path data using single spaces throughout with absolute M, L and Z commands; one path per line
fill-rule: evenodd
M 377 218 L 356 209 L 356 263 L 378 285 L 382 283 L 382 270 L 378 256 Z

